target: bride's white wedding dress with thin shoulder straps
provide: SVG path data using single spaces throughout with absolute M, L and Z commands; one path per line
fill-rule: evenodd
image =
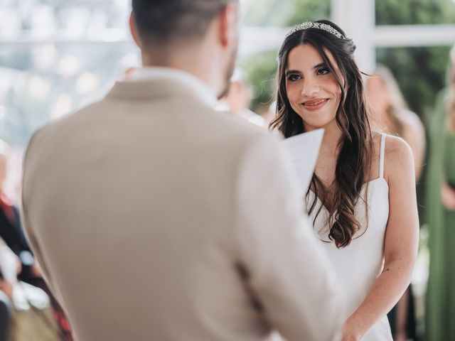
M 379 178 L 366 183 L 361 193 L 361 196 L 365 198 L 368 190 L 366 197 L 368 224 L 365 202 L 359 199 L 355 205 L 355 217 L 359 220 L 361 229 L 355 233 L 352 242 L 347 247 L 338 249 L 335 243 L 328 239 L 326 224 L 328 211 L 319 198 L 316 198 L 316 207 L 310 215 L 311 222 L 314 222 L 314 231 L 332 261 L 343 293 L 347 298 L 346 318 L 363 302 L 384 265 L 385 227 L 389 216 L 389 186 L 384 178 L 384 149 L 385 134 L 382 135 L 380 144 Z M 311 205 L 314 193 L 310 192 L 308 199 L 308 205 Z M 321 212 L 316 217 L 319 207 L 321 207 Z M 378 323 L 375 323 L 362 340 L 392 341 L 387 316 L 383 316 Z

